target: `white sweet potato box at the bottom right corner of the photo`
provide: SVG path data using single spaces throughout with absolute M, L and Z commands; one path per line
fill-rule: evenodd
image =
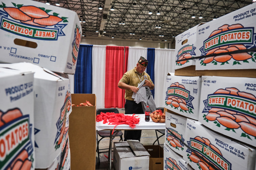
M 216 133 L 195 120 L 187 119 L 183 159 L 195 170 L 255 168 L 255 148 Z M 211 167 L 211 168 L 210 168 Z M 215 169 L 216 169 L 215 168 Z

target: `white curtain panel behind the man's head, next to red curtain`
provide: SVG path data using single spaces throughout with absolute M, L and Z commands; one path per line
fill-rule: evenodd
M 129 47 L 127 71 L 136 67 L 140 56 L 147 59 L 148 48 Z M 146 70 L 145 70 L 146 72 Z

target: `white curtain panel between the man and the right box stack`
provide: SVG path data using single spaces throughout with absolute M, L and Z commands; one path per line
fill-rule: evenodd
M 156 107 L 165 107 L 165 75 L 174 72 L 174 49 L 155 49 L 155 104 Z

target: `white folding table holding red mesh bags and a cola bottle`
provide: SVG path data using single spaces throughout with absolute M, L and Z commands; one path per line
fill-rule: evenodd
M 132 116 L 132 114 L 126 114 Z M 145 114 L 135 114 L 134 116 L 138 116 L 140 118 L 139 123 L 136 124 L 135 128 L 131 128 L 129 125 L 121 124 L 117 125 L 114 130 L 163 130 L 165 129 L 165 123 L 156 123 L 153 122 L 150 118 L 149 122 L 145 121 Z M 96 122 L 96 129 L 97 130 L 110 130 L 110 139 L 109 139 L 109 151 L 112 150 L 112 131 L 115 125 L 109 125 L 108 123 L 103 124 L 103 121 Z M 111 152 L 108 152 L 108 162 L 109 162 L 109 170 L 111 170 Z

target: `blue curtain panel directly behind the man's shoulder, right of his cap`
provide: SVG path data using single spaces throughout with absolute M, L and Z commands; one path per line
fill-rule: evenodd
M 149 64 L 147 66 L 147 73 L 149 74 L 151 80 L 155 84 L 155 49 L 148 48 L 147 60 Z M 151 91 L 153 98 L 155 98 L 155 89 Z

